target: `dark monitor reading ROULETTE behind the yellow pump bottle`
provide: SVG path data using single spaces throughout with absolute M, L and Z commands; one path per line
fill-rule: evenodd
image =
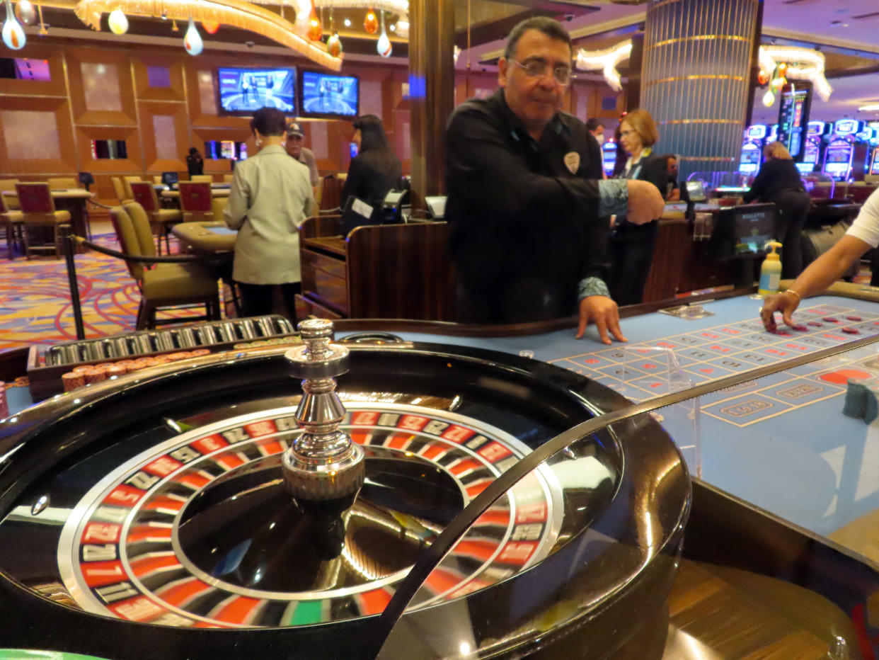
M 762 254 L 766 243 L 774 237 L 774 222 L 774 204 L 745 204 L 721 209 L 711 234 L 711 251 L 719 258 Z

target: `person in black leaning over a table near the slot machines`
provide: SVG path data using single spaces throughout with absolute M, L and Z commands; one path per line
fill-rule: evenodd
M 800 171 L 790 153 L 780 142 L 766 144 L 766 161 L 754 177 L 743 200 L 775 204 L 774 234 L 781 243 L 781 277 L 788 280 L 803 272 L 803 224 L 809 213 L 810 198 L 803 187 Z

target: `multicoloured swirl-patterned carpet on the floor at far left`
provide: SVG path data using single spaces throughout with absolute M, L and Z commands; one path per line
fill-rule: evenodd
M 94 236 L 119 250 L 115 234 Z M 5 249 L 5 246 L 4 246 Z M 177 252 L 171 245 L 171 251 Z M 4 255 L 5 256 L 5 255 Z M 141 294 L 125 263 L 99 253 L 77 254 L 76 275 L 86 337 L 134 330 Z M 76 339 L 63 259 L 0 260 L 0 351 Z M 160 312 L 159 318 L 197 316 L 198 309 Z

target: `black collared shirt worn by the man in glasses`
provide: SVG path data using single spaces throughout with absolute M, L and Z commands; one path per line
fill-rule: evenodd
M 576 162 L 571 172 L 566 165 Z M 534 141 L 503 90 L 459 106 L 447 130 L 446 216 L 458 318 L 483 322 L 576 313 L 578 282 L 607 275 L 599 221 L 599 145 L 558 113 Z M 464 306 L 466 309 L 461 309 Z

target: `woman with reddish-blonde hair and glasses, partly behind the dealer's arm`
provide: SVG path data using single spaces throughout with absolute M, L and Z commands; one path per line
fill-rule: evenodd
M 658 139 L 656 123 L 650 113 L 637 109 L 626 114 L 620 122 L 620 141 L 628 160 L 620 177 L 650 181 L 659 194 L 665 195 L 668 165 L 651 150 Z M 638 304 L 643 300 L 657 231 L 657 223 L 632 224 L 625 216 L 616 218 L 611 231 L 611 274 L 607 285 L 617 304 Z

